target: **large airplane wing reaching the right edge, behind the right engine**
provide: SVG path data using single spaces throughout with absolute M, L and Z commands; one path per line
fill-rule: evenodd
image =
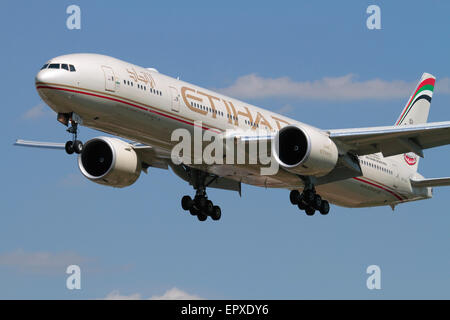
M 414 152 L 423 157 L 423 149 L 450 144 L 450 121 L 408 126 L 387 126 L 328 130 L 341 148 L 357 155 L 381 152 L 389 157 Z

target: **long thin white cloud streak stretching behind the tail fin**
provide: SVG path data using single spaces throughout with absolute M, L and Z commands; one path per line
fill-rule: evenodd
M 256 74 L 239 77 L 228 88 L 219 89 L 226 95 L 244 98 L 288 97 L 311 100 L 362 100 L 407 98 L 416 86 L 403 80 L 371 79 L 358 81 L 354 74 L 324 77 L 314 81 L 293 81 L 288 77 L 263 78 Z M 441 87 L 441 89 L 438 89 Z M 439 93 L 450 93 L 450 79 L 442 78 Z

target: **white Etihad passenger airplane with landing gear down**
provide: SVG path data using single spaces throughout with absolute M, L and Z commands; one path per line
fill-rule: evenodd
M 78 154 L 84 177 L 117 188 L 132 185 L 150 167 L 170 167 L 194 188 L 194 198 L 183 196 L 181 205 L 199 221 L 222 215 L 208 199 L 207 188 L 239 195 L 242 183 L 287 189 L 290 202 L 312 216 L 316 211 L 328 214 L 330 203 L 394 210 L 401 203 L 431 198 L 432 187 L 450 185 L 450 177 L 426 179 L 417 172 L 424 149 L 450 144 L 450 121 L 427 123 L 435 85 L 428 73 L 394 125 L 337 130 L 322 130 L 100 54 L 50 59 L 35 85 L 72 139 L 65 144 L 17 140 L 15 145 Z M 82 143 L 79 125 L 122 139 L 100 136 Z M 180 128 L 235 144 L 265 141 L 279 169 L 266 175 L 259 162 L 176 163 L 171 134 Z

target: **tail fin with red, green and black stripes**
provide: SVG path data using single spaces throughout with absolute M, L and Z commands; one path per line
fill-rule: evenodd
M 409 97 L 406 102 L 405 108 L 395 122 L 396 126 L 407 126 L 427 122 L 435 81 L 436 78 L 429 73 L 424 73 L 422 75 L 419 84 L 414 89 L 411 97 Z M 396 155 L 393 158 L 396 158 L 399 163 L 404 163 L 411 169 L 417 171 L 419 157 L 415 153 L 410 152 Z

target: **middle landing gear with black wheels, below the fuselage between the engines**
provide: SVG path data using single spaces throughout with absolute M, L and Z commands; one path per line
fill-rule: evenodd
M 208 196 L 206 195 L 206 173 L 191 169 L 191 176 L 194 181 L 194 189 L 196 190 L 195 197 L 192 199 L 190 196 L 184 196 L 181 199 L 181 207 L 189 211 L 191 215 L 197 216 L 199 221 L 205 221 L 208 217 L 211 217 L 215 221 L 220 220 L 222 216 L 220 207 L 214 205 L 211 200 L 208 200 Z

